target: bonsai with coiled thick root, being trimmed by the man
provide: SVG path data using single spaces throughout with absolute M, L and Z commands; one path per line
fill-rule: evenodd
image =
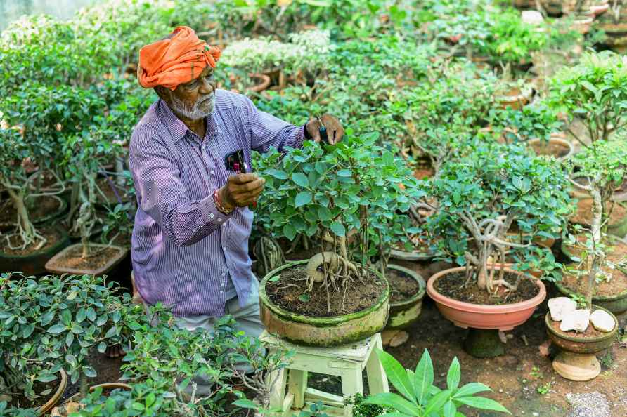
M 276 237 L 293 241 L 301 234 L 319 247 L 307 265 L 308 292 L 314 285 L 328 294 L 346 291 L 361 281 L 373 249 L 370 236 L 382 236 L 387 227 L 380 219 L 394 219 L 423 195 L 403 161 L 375 145 L 377 133 L 351 133 L 334 147 L 305 142 L 285 157 L 261 157 L 263 166 L 276 167 L 260 172 L 267 178 L 261 224 Z

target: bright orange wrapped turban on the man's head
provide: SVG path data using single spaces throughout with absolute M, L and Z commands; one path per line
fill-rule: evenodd
M 164 86 L 174 90 L 200 75 L 207 65 L 216 67 L 220 48 L 198 39 L 193 29 L 179 26 L 172 39 L 146 45 L 139 51 L 137 77 L 143 88 Z

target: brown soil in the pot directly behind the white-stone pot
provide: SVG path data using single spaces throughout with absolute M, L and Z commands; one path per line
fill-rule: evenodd
M 586 236 L 580 234 L 577 236 L 578 241 L 582 244 L 585 244 Z M 621 263 L 627 261 L 627 244 L 622 241 L 615 241 L 612 244 L 612 249 L 609 249 L 607 260 L 612 263 Z M 569 246 L 570 251 L 574 254 L 578 253 L 578 251 L 571 246 Z M 616 268 L 610 267 L 602 267 L 603 272 L 608 274 L 611 279 L 609 281 L 601 281 L 597 282 L 595 285 L 595 295 L 596 296 L 613 296 L 624 291 L 627 291 L 627 274 L 618 270 Z M 567 287 L 567 289 L 571 289 L 576 293 L 585 293 L 586 288 L 588 286 L 587 277 L 576 277 L 575 275 L 564 275 L 562 277 L 562 285 Z

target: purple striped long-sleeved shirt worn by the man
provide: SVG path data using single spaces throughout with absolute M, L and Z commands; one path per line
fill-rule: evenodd
M 165 102 L 150 106 L 131 138 L 129 164 L 138 210 L 131 239 L 135 282 L 148 304 L 162 302 L 174 315 L 224 315 L 228 287 L 240 305 L 250 295 L 248 237 L 253 213 L 229 216 L 213 192 L 234 171 L 224 157 L 242 149 L 300 147 L 302 126 L 257 110 L 244 95 L 216 90 L 204 140 L 190 131 Z

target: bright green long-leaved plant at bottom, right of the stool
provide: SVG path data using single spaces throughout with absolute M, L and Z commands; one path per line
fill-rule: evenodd
M 467 383 L 459 386 L 461 378 L 460 363 L 453 358 L 446 374 L 446 389 L 433 385 L 434 371 L 429 352 L 425 350 L 416 365 L 415 371 L 404 369 L 392 355 L 383 350 L 376 350 L 383 369 L 399 394 L 389 392 L 368 397 L 363 404 L 376 404 L 396 412 L 384 416 L 429 417 L 463 416 L 458 409 L 470 406 L 475 409 L 498 411 L 511 414 L 500 403 L 486 397 L 478 397 L 479 392 L 491 391 L 482 383 Z

